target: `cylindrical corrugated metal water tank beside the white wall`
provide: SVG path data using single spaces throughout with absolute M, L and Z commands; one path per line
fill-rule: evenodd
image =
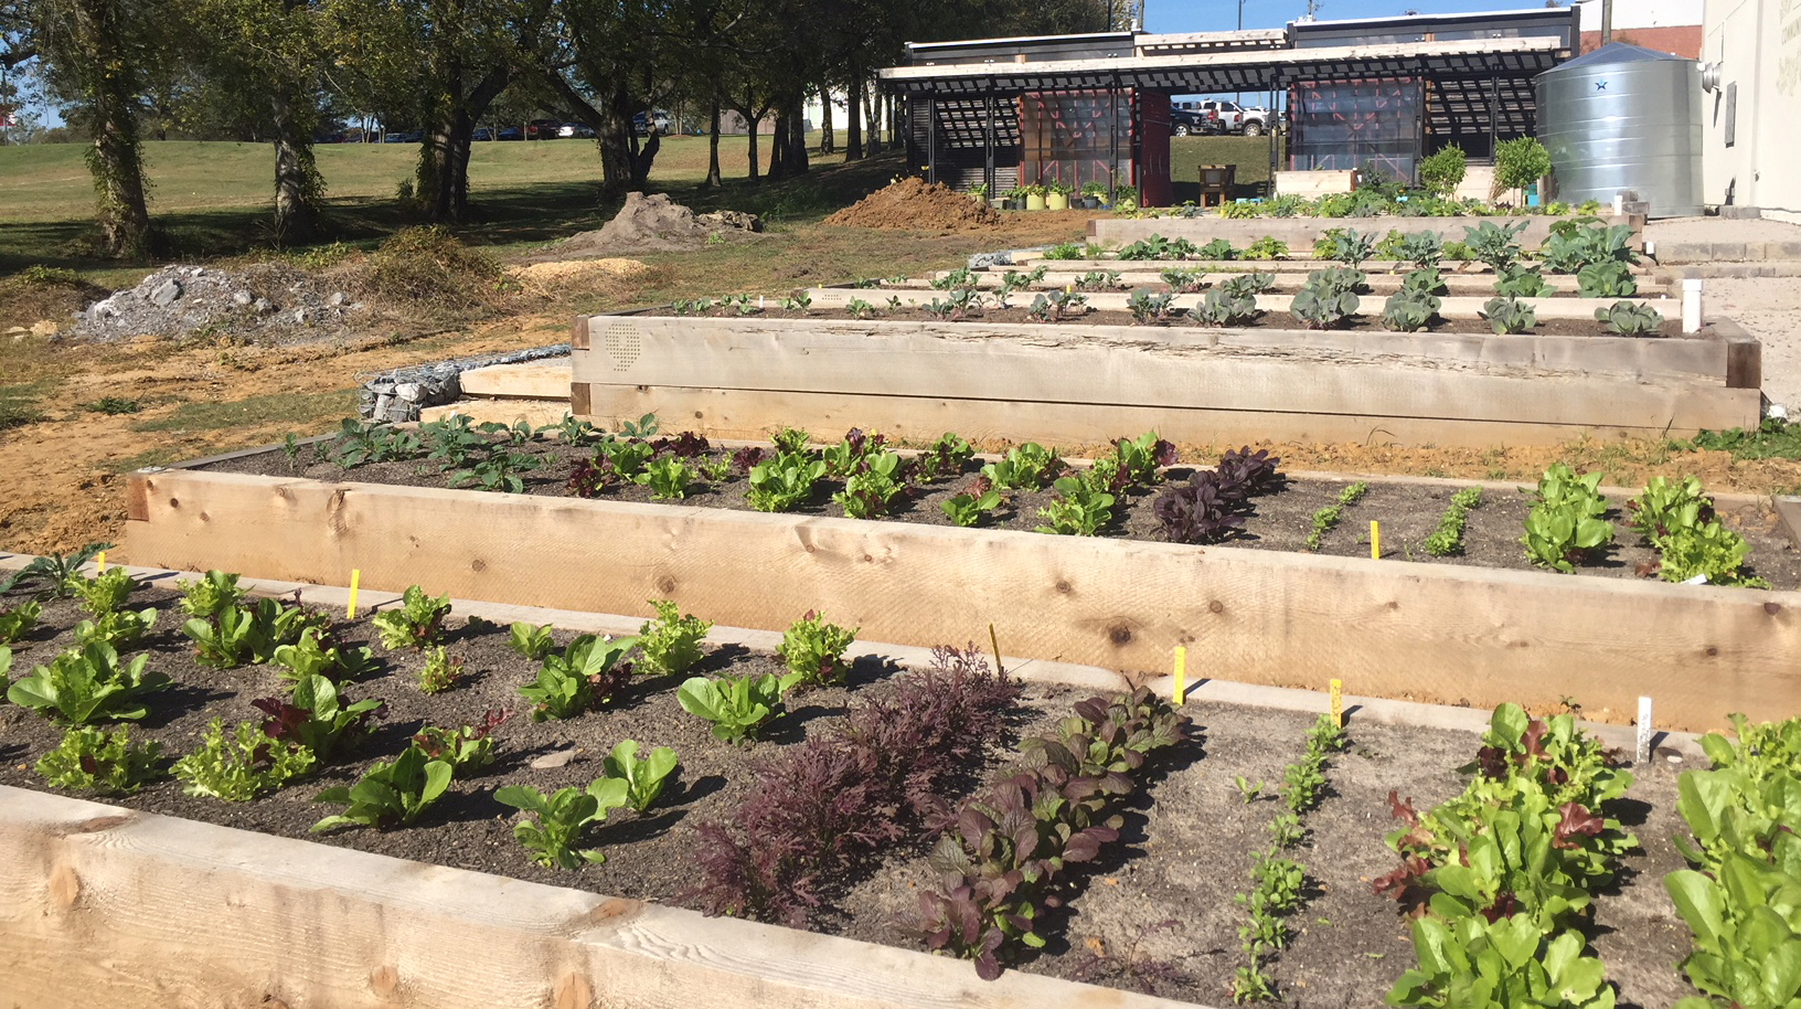
M 1615 41 L 1534 85 L 1558 200 L 1612 204 L 1634 189 L 1652 216 L 1702 213 L 1700 63 Z

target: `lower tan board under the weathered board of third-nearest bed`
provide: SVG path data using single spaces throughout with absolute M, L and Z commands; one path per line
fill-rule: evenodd
M 1556 445 L 1569 438 L 1661 438 L 1662 427 L 1560 425 L 1529 420 L 1437 420 L 1407 416 L 1335 416 L 1317 413 L 1124 407 L 1097 404 L 1023 404 L 937 396 L 850 396 L 765 393 L 758 389 L 686 389 L 672 386 L 589 386 L 587 416 L 618 427 L 647 413 L 670 429 L 708 438 L 767 441 L 769 432 L 800 427 L 837 436 L 852 427 L 926 441 L 955 431 L 964 438 L 1097 445 L 1124 432 L 1156 431 L 1180 443 L 1356 441 L 1491 449 Z

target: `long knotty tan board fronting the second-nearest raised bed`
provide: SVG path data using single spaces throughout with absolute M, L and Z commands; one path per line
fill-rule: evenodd
M 148 474 L 133 564 L 225 568 L 738 627 L 818 609 L 872 640 L 1000 636 L 1030 658 L 1475 706 L 1628 712 L 1682 730 L 1801 714 L 1801 593 L 1050 537 L 717 508 Z M 281 537 L 270 537 L 281 528 Z M 546 571 L 564 575 L 548 578 Z M 1196 672 L 1196 676 L 1203 676 Z

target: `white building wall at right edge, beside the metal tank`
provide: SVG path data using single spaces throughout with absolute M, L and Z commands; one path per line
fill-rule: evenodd
M 1702 200 L 1801 209 L 1801 0 L 1707 0 L 1702 63 Z

